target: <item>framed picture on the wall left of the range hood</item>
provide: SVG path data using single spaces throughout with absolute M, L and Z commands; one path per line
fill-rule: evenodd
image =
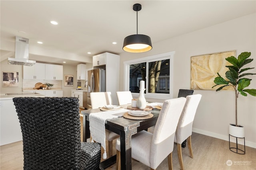
M 18 87 L 19 72 L 3 72 L 3 87 Z

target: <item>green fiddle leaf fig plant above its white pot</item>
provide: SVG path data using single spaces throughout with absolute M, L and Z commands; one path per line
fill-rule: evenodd
M 250 82 L 252 79 L 245 78 L 244 76 L 256 74 L 256 73 L 244 73 L 244 71 L 250 70 L 253 68 L 242 68 L 244 65 L 251 63 L 253 61 L 253 59 L 248 59 L 250 57 L 250 55 L 251 55 L 250 52 L 243 52 L 238 56 L 237 59 L 234 56 L 226 58 L 226 61 L 228 61 L 229 63 L 232 64 L 230 66 L 226 66 L 229 69 L 226 72 L 226 78 L 228 80 L 225 80 L 222 76 L 220 76 L 219 73 L 217 73 L 218 77 L 216 77 L 214 79 L 214 83 L 216 84 L 215 86 L 224 85 L 224 86 L 221 86 L 220 88 L 218 88 L 216 90 L 216 92 L 219 90 L 222 90 L 222 88 L 224 88 L 226 86 L 232 86 L 234 88 L 235 101 L 236 101 L 236 126 L 238 126 L 238 124 L 237 124 L 237 98 L 238 98 L 238 95 L 241 94 L 242 96 L 247 96 L 247 93 L 248 93 L 252 96 L 256 96 L 256 89 L 245 89 L 246 87 L 248 87 L 250 85 Z M 215 86 L 212 86 L 212 88 L 214 88 Z

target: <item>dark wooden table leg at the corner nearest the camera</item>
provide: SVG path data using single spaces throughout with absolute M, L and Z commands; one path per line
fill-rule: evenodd
M 131 131 L 121 131 L 121 170 L 132 170 Z

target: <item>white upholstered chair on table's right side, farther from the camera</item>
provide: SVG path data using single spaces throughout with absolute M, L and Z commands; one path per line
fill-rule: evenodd
M 187 139 L 190 157 L 193 158 L 191 147 L 192 125 L 196 114 L 196 109 L 201 100 L 201 94 L 194 94 L 186 97 L 186 104 L 180 115 L 177 125 L 174 142 L 177 143 L 178 157 L 180 161 L 180 168 L 184 170 L 182 161 L 181 144 Z

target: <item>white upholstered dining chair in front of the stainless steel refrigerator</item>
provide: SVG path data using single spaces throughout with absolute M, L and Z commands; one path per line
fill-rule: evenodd
M 90 93 L 92 109 L 104 107 L 105 105 L 112 104 L 111 92 L 91 92 Z M 108 141 L 108 156 L 111 157 L 113 149 L 113 140 L 120 137 L 118 134 L 105 130 L 106 140 Z

